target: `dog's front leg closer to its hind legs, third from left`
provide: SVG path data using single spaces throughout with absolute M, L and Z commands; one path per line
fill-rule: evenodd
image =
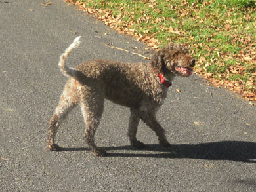
M 131 146 L 135 148 L 142 148 L 145 146 L 142 142 L 138 141 L 136 138 L 139 121 L 140 121 L 139 111 L 135 111 L 131 109 L 131 116 L 129 120 L 129 128 L 128 128 L 127 136 L 129 137 Z

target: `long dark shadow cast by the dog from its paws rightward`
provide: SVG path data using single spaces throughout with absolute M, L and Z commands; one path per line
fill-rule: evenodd
M 254 142 L 223 141 L 203 144 L 179 144 L 171 145 L 168 149 L 165 149 L 158 144 L 146 145 L 143 149 L 133 149 L 131 146 L 103 147 L 103 149 L 107 152 L 115 150 L 136 151 L 136 153 L 108 152 L 108 157 L 188 158 L 256 163 L 256 143 Z M 62 148 L 62 151 L 89 151 L 89 149 Z M 138 153 L 138 151 L 143 151 L 143 153 Z M 154 153 L 150 151 L 153 151 Z

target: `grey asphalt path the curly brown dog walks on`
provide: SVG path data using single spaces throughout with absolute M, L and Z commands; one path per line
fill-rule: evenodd
M 89 153 L 79 108 L 58 130 L 64 151 L 48 151 L 47 123 L 66 82 L 58 58 L 77 35 L 70 66 L 147 62 L 107 45 L 151 52 L 62 0 L 47 2 L 0 0 L 0 191 L 256 191 L 256 107 L 196 75 L 175 79 L 158 112 L 176 155 L 143 123 L 146 148 L 132 149 L 129 110 L 111 102 L 96 133 L 108 157 Z

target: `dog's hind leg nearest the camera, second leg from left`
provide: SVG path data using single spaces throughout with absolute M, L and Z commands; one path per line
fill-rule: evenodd
M 95 144 L 95 132 L 100 124 L 104 108 L 104 97 L 100 94 L 100 88 L 85 90 L 85 96 L 80 102 L 81 111 L 85 121 L 85 142 L 97 156 L 105 156 L 106 151 L 99 149 Z M 95 89 L 95 90 L 94 90 Z

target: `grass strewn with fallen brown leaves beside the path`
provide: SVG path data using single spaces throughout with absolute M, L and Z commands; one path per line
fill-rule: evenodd
M 256 1 L 67 1 L 150 47 L 190 47 L 196 73 L 256 101 Z

